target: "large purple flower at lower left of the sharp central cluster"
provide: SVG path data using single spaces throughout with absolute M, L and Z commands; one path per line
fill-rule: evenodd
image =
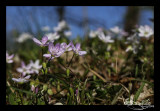
M 53 59 L 55 57 L 59 57 L 64 53 L 64 50 L 60 48 L 60 43 L 57 43 L 55 46 L 52 42 L 49 43 L 48 50 L 50 54 L 44 54 L 43 56 L 46 58 Z

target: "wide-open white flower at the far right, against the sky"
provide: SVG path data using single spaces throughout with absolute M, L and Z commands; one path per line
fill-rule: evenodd
M 151 35 L 153 35 L 153 30 L 152 28 L 150 28 L 148 25 L 145 25 L 145 26 L 140 26 L 138 28 L 138 31 L 139 31 L 139 36 L 140 37 L 150 37 Z

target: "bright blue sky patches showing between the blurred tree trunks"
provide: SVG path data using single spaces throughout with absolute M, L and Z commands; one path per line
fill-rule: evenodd
M 34 6 L 33 6 L 34 7 Z M 25 9 L 25 11 L 23 11 L 25 13 L 25 19 L 29 19 L 30 16 L 30 10 L 33 8 L 31 6 L 29 7 L 21 7 L 21 10 Z M 37 7 L 36 10 L 38 12 L 38 10 L 42 10 L 44 8 L 44 15 L 42 14 L 37 14 L 36 16 L 36 20 L 39 21 L 41 27 L 43 26 L 50 26 L 51 28 L 55 27 L 58 23 L 58 19 L 57 16 L 55 14 L 55 12 L 51 11 L 51 13 L 48 13 L 47 10 L 49 10 L 50 7 Z M 121 28 L 123 28 L 123 20 L 124 20 L 124 14 L 126 12 L 126 6 L 87 6 L 87 16 L 89 18 L 93 18 L 96 20 L 99 20 L 101 22 L 103 22 L 105 24 L 106 29 L 109 29 L 111 27 L 114 27 L 116 25 L 120 26 Z M 83 6 L 66 6 L 66 13 L 65 16 L 69 16 L 69 14 L 72 14 L 72 16 L 75 17 L 79 17 L 81 18 L 83 16 Z M 46 10 L 46 11 L 45 11 Z M 53 18 L 52 20 L 48 20 L 48 16 L 47 14 L 53 14 Z M 25 31 L 25 29 L 23 30 L 24 26 L 23 26 L 23 19 L 22 21 L 20 21 L 21 16 L 17 16 L 19 15 L 19 11 L 17 10 L 17 6 L 7 6 L 7 30 L 12 30 L 12 29 L 22 29 L 22 31 Z M 55 16 L 54 16 L 55 15 Z M 150 10 L 143 10 L 141 15 L 140 15 L 140 23 L 139 25 L 152 25 L 152 23 L 148 20 L 149 18 L 153 18 L 153 13 Z M 17 25 L 17 23 L 20 22 L 20 25 Z M 79 28 L 77 26 L 72 25 L 71 23 L 69 23 L 69 26 L 71 28 L 72 31 L 72 37 L 74 38 L 77 35 L 83 36 L 84 34 L 84 30 L 82 28 Z M 22 27 L 20 27 L 22 26 Z M 32 27 L 34 27 L 31 24 Z M 95 30 L 96 28 L 101 27 L 101 26 L 97 26 L 97 27 L 92 27 L 92 25 L 89 24 L 89 28 L 91 30 Z M 34 29 L 34 28 L 33 28 Z

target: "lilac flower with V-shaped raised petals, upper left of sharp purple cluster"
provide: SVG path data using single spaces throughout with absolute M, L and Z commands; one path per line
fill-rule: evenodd
M 38 40 L 38 39 L 36 39 L 36 38 L 33 38 L 33 41 L 37 44 L 37 45 L 39 45 L 39 46 L 41 46 L 41 47 L 43 47 L 43 46 L 48 46 L 48 37 L 47 36 L 44 36 L 44 37 L 42 37 L 42 40 Z

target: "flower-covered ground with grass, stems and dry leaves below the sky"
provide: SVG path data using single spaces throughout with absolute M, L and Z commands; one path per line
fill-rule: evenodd
M 150 26 L 135 26 L 132 34 L 98 28 L 74 40 L 65 21 L 54 30 L 23 33 L 16 51 L 6 51 L 7 105 L 154 104 Z

